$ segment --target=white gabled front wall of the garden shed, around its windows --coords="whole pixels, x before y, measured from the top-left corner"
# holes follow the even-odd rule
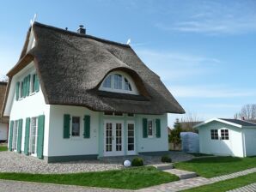
[[[220,129],[229,129],[229,140],[211,140],[210,129],[218,129],[219,136]],[[198,131],[200,153],[244,156],[241,128],[214,121],[201,126]]]

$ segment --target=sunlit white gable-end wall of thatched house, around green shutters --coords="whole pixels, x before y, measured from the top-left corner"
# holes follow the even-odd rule
[[[24,151],[24,138],[25,138],[25,124],[27,117],[38,117],[45,115],[45,137],[44,137],[44,155],[48,155],[48,136],[49,135],[49,111],[50,105],[46,105],[44,95],[41,91],[38,93],[32,93],[26,98],[15,100],[15,84],[17,81],[22,81],[28,74],[33,75],[35,72],[34,63],[29,63],[27,67],[22,69],[16,74],[12,81],[9,91],[9,120],[15,121],[23,119],[22,123],[22,137],[21,137],[21,151]],[[31,87],[31,86],[30,86]]]

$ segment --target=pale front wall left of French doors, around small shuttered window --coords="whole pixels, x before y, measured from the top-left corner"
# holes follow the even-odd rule
[[[99,112],[85,107],[51,105],[49,153],[47,156],[98,154]],[[64,139],[64,114],[80,117],[80,137]],[[83,117],[90,116],[90,138],[83,138]]]

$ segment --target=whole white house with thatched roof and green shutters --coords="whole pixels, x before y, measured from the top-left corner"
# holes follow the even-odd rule
[[[37,22],[8,75],[9,150],[47,162],[167,152],[184,112],[129,45]]]

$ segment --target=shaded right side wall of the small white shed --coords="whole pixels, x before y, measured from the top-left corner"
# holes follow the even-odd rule
[[[256,129],[246,128],[243,129],[245,137],[245,153],[247,156],[256,155]]]

